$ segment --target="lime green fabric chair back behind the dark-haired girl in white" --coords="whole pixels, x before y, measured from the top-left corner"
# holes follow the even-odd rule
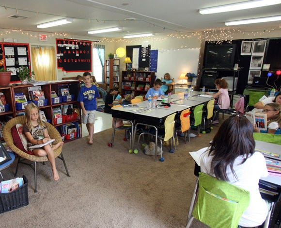
[[[192,215],[207,226],[237,228],[249,203],[247,190],[199,173],[199,196]]]

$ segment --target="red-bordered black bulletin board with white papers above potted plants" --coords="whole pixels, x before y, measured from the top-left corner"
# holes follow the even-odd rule
[[[17,75],[20,66],[31,68],[29,44],[0,43],[0,56],[0,68],[12,71],[11,81],[19,81]]]

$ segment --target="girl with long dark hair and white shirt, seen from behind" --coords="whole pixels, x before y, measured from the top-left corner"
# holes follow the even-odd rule
[[[257,227],[266,218],[268,206],[259,192],[259,179],[268,175],[265,157],[255,152],[253,127],[244,116],[226,119],[211,147],[200,157],[201,172],[250,192],[250,203],[239,225]]]

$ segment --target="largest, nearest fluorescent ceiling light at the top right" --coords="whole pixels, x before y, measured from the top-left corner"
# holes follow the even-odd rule
[[[263,7],[268,5],[276,5],[280,4],[281,0],[250,0],[244,1],[240,3],[228,4],[228,5],[220,5],[210,8],[200,9],[200,14],[217,14],[223,12],[230,12],[236,10],[245,10],[245,9],[252,9],[257,7]]]

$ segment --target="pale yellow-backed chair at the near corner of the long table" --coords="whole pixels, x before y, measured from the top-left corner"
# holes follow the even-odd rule
[[[139,139],[138,139],[138,145],[140,143],[140,138],[143,135],[154,136],[155,137],[156,148],[157,148],[157,145],[158,145],[157,142],[158,142],[158,139],[159,139],[159,141],[160,141],[160,149],[161,149],[161,157],[159,159],[160,162],[164,162],[163,149],[162,149],[162,140],[168,141],[168,140],[170,140],[172,138],[172,144],[170,144],[171,148],[170,148],[169,152],[170,153],[174,152],[174,150],[173,150],[173,142],[174,142],[174,132],[175,132],[175,120],[174,120],[175,115],[176,114],[173,113],[173,114],[168,115],[166,117],[165,122],[164,122],[164,132],[163,133],[161,133],[161,131],[159,131],[159,134],[158,134],[158,129],[154,125],[144,124],[144,123],[137,123],[135,125],[135,129],[137,129],[137,127],[139,125],[142,125],[142,126],[148,127],[149,129],[152,129],[153,131],[155,131],[155,133],[152,133],[152,130],[141,132],[141,134],[139,135]],[[135,138],[135,135],[134,135],[134,138]],[[157,149],[155,151],[155,161],[157,161]]]

